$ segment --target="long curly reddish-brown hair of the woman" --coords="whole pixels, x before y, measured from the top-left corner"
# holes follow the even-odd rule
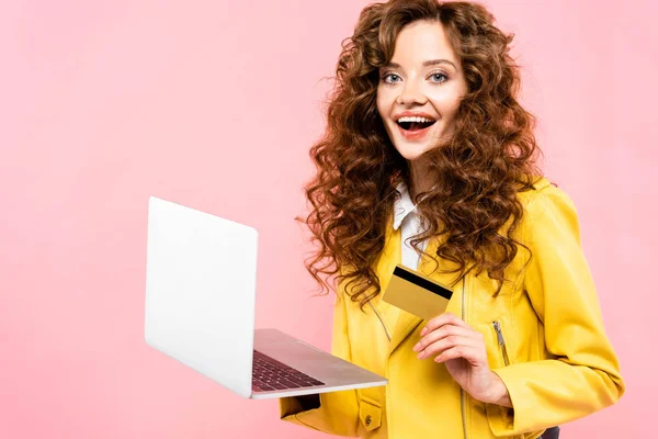
[[[444,26],[467,93],[450,139],[424,154],[438,184],[416,196],[424,232],[411,245],[422,252],[420,243],[445,235],[429,255],[436,269],[441,260],[452,261],[457,268],[450,272],[458,279],[486,270],[500,292],[504,269],[523,246],[512,237],[523,215],[518,192],[541,176],[535,117],[517,100],[520,72],[509,54],[513,34],[496,27],[478,3],[390,0],[366,7],[342,43],[327,130],[310,149],[317,172],[305,188],[310,213],[303,219],[318,245],[306,268],[321,293],[347,281],[345,291],[361,306],[381,292],[374,267],[399,195],[396,187],[409,178],[377,112],[378,69],[393,58],[402,27],[419,20]]]

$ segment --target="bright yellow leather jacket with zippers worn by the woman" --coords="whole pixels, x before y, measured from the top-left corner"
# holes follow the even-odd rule
[[[424,322],[375,297],[338,300],[332,353],[388,378],[383,387],[320,395],[320,407],[303,410],[281,399],[284,420],[331,435],[363,438],[533,439],[611,404],[624,393],[619,361],[603,329],[599,302],[580,247],[571,200],[546,179],[521,192],[525,215],[514,232],[519,247],[498,295],[486,272],[469,273],[454,288],[447,311],[485,336],[489,367],[509,391],[513,409],[472,398],[443,363],[412,351]],[[428,252],[435,251],[430,243]],[[400,262],[399,230],[386,237],[377,263],[383,290]],[[443,263],[443,262],[442,262]],[[450,284],[454,274],[419,271]],[[339,288],[339,299],[345,294]],[[399,313],[399,314],[398,314]]]

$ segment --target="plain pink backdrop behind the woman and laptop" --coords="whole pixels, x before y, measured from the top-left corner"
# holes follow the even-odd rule
[[[144,342],[147,201],[258,227],[259,326],[328,348],[331,299],[310,297],[293,217],[324,127],[321,78],[366,3],[2,2],[0,437],[322,437]],[[646,435],[658,3],[487,4],[518,35],[545,170],[578,206],[628,385],[564,436]]]

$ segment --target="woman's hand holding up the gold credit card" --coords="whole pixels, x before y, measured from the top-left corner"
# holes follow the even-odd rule
[[[432,318],[413,347],[419,359],[434,357],[452,378],[474,398],[511,407],[502,380],[489,369],[487,348],[480,333],[452,313]]]

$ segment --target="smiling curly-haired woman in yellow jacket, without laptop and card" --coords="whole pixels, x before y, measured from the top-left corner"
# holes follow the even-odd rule
[[[537,438],[624,393],[570,199],[536,168],[512,36],[467,2],[365,8],[313,147],[308,263],[338,283],[332,352],[388,378],[281,399],[365,438]],[[381,300],[396,264],[453,288],[423,322]]]

